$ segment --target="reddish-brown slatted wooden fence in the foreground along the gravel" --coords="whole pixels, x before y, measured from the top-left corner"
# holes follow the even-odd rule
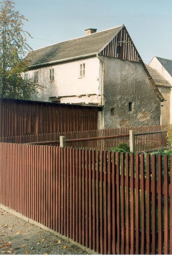
[[[0,159],[1,204],[101,254],[172,254],[167,156],[0,143]]]

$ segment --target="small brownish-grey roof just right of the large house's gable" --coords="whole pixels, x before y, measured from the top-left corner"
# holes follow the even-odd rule
[[[147,64],[145,64],[149,74],[152,76],[154,83],[157,86],[171,86],[171,84],[154,68],[151,68]]]

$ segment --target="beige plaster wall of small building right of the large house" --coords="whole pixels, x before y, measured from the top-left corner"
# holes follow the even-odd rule
[[[161,105],[161,124],[170,123],[170,87],[158,86],[159,91],[166,101],[160,102]]]

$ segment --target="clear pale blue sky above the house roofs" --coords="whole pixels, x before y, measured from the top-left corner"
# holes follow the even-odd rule
[[[153,56],[172,60],[171,0],[15,2],[15,8],[28,19],[24,29],[33,37],[27,37],[32,49],[84,36],[86,28],[101,31],[124,24],[145,63]]]

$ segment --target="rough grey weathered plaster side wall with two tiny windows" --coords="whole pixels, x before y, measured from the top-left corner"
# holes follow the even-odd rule
[[[160,124],[160,103],[139,62],[101,57],[104,74],[104,128]],[[128,111],[133,102],[133,111]],[[111,115],[114,108],[114,115]]]

